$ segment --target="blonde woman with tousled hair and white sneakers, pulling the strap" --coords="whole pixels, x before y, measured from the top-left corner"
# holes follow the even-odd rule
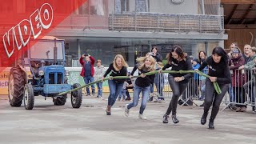
[[[150,96],[150,85],[154,83],[154,75],[145,75],[150,71],[155,69],[155,60],[152,56],[140,57],[137,58],[138,64],[134,66],[134,70],[131,72],[131,76],[138,69],[138,74],[141,76],[136,79],[134,84],[134,98],[133,102],[126,104],[125,114],[126,117],[129,116],[129,110],[132,107],[138,105],[139,94],[142,92],[142,105],[139,110],[138,118],[146,119],[143,115],[143,112],[146,108],[146,102]]]

